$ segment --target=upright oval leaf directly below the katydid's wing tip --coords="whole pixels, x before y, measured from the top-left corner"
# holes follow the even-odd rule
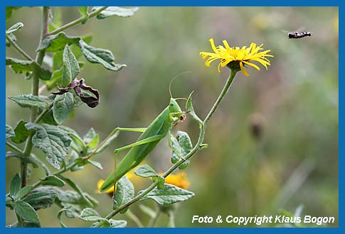
[[[119,182],[117,182],[113,209],[116,210],[120,206],[132,200],[133,197],[134,197],[134,186],[132,182],[130,182],[130,180],[126,176],[124,176],[119,180]],[[125,213],[126,211],[127,211],[127,208],[120,211],[120,213]]]

